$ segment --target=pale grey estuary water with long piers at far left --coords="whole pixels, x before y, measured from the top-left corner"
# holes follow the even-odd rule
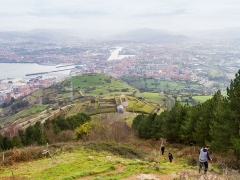
[[[40,73],[40,72],[51,72],[64,70],[59,72],[53,72],[49,74],[43,74],[43,78],[53,77],[53,76],[68,76],[70,74],[69,69],[74,68],[74,66],[59,67],[49,66],[49,65],[39,65],[36,63],[0,63],[0,79],[8,78],[32,78],[35,76],[25,76],[26,74]],[[67,70],[65,70],[67,69]]]

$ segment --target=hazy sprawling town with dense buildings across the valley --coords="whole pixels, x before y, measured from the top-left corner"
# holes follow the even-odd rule
[[[218,89],[226,90],[240,68],[240,44],[229,39],[186,39],[169,43],[0,39],[0,63],[74,65],[65,77],[44,79],[40,73],[34,77],[1,79],[0,103],[84,73],[106,73],[119,79],[130,75],[194,81],[211,94]]]

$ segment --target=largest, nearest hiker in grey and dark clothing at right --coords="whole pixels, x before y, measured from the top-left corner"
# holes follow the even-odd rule
[[[202,148],[199,152],[199,173],[201,172],[202,167],[204,166],[204,174],[207,173],[208,170],[208,160],[212,161],[210,158],[210,154],[208,152],[209,145],[206,145],[205,148]]]

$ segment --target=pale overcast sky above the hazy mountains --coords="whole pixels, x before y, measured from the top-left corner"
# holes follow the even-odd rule
[[[240,27],[239,0],[1,0],[0,30]]]

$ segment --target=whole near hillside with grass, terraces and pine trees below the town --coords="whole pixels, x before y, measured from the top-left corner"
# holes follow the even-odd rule
[[[111,89],[122,85],[121,91]],[[160,113],[163,107],[143,100],[147,96],[150,99],[151,94],[144,93],[140,98],[136,97],[138,93],[113,77],[86,74],[41,89],[21,103],[13,102],[7,108],[15,114],[8,120],[15,123],[1,129],[5,130],[4,136],[0,134],[0,179],[239,178],[240,162],[234,151],[239,148],[238,141],[224,141],[238,131],[227,131],[225,127],[224,133],[228,134],[220,137],[225,118],[216,126],[216,110],[220,115],[229,115],[226,107],[230,106],[225,103],[231,101],[224,101],[218,92],[203,104],[191,107],[177,102],[171,111]],[[155,93],[153,97],[156,95],[160,96]],[[39,97],[42,105],[36,105]],[[123,109],[116,113],[118,104]],[[217,121],[208,118],[211,113]],[[208,123],[211,129],[206,131],[200,123]],[[198,152],[206,143],[201,127],[207,138],[213,137],[213,161],[207,175],[197,170]],[[188,146],[189,142],[193,143]],[[159,152],[162,144],[166,148],[164,155]],[[168,160],[169,152],[174,156],[173,163]]]

